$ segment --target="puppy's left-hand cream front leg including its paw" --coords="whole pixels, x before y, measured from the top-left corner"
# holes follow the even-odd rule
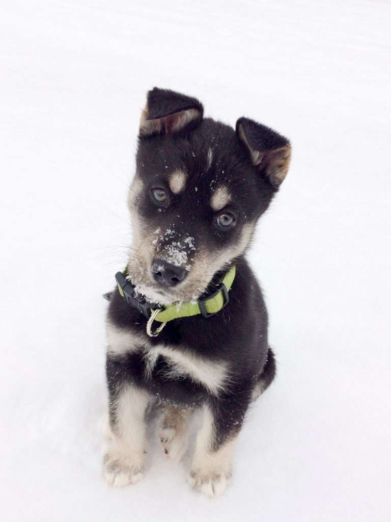
[[[143,476],[146,446],[144,413],[148,406],[148,394],[133,384],[121,383],[120,379],[113,382],[113,375],[115,373],[107,375],[112,438],[103,462],[107,482],[122,487],[138,482]]]

